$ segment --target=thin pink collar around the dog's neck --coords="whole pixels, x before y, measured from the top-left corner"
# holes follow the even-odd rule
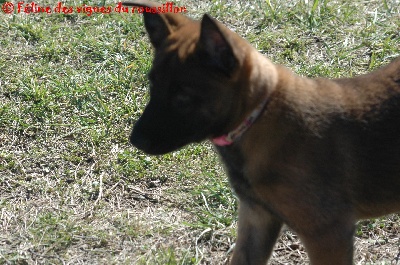
[[[222,136],[211,139],[211,141],[218,146],[225,146],[232,144],[236,139],[243,135],[250,128],[250,126],[254,123],[254,121],[261,114],[261,111],[264,109],[265,104],[267,104],[267,99],[263,100],[260,105],[257,106],[253,110],[252,113],[233,131],[230,131],[228,134],[224,134]]]

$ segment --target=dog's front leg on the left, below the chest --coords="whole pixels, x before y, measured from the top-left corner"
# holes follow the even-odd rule
[[[262,206],[239,203],[238,237],[231,265],[265,265],[279,235],[282,222]]]

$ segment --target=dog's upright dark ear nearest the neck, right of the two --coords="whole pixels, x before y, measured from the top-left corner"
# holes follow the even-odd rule
[[[224,30],[218,21],[205,14],[201,20],[200,45],[208,55],[207,63],[230,76],[238,64]]]

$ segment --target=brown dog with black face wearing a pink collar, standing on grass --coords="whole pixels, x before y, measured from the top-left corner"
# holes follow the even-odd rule
[[[283,224],[311,264],[352,264],[356,221],[400,211],[400,57],[309,79],[207,14],[143,16],[155,57],[130,142],[160,155],[212,141],[239,198],[230,264],[266,264]]]

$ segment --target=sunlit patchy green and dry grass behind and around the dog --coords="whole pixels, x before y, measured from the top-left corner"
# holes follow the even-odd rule
[[[354,76],[400,54],[398,1],[176,4],[305,76]],[[237,204],[211,145],[150,157],[128,143],[152,58],[139,15],[2,13],[0,46],[0,264],[227,260]],[[357,264],[395,259],[399,224],[360,222]],[[271,262],[282,263],[307,263],[290,230]]]

